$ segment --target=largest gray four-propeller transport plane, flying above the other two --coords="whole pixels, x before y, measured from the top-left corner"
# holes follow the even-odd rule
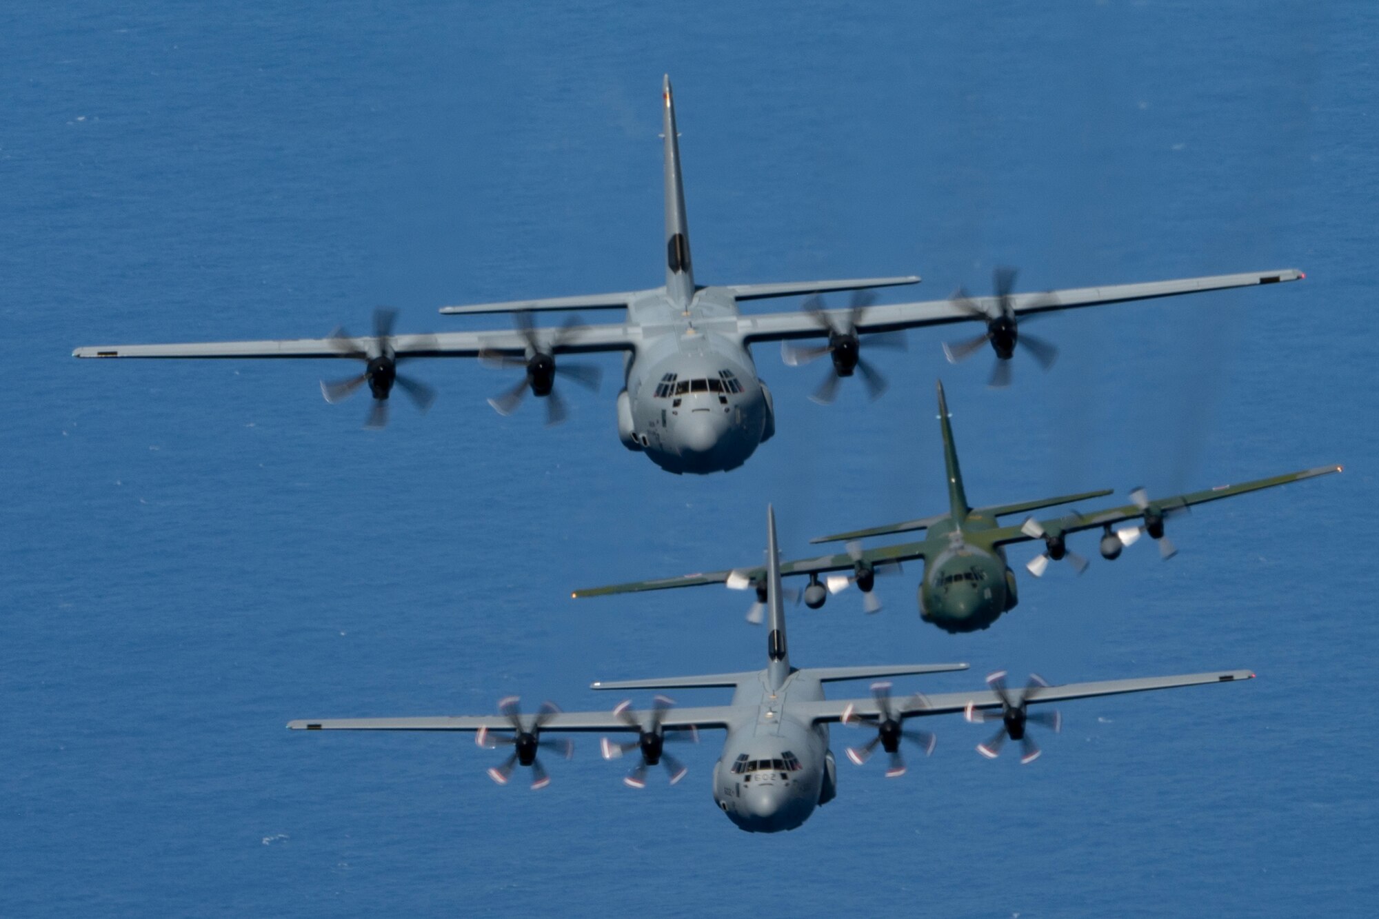
[[[474,306],[444,306],[451,315],[516,315],[517,328],[495,331],[433,333],[394,335],[392,310],[375,313],[372,337],[336,333],[328,338],[281,341],[230,341],[183,345],[97,345],[77,348],[76,357],[350,357],[364,362],[352,378],[321,384],[328,402],[349,396],[365,382],[374,397],[370,426],[386,422],[387,397],[394,382],[421,408],[434,393],[421,381],[401,377],[399,362],[411,357],[480,357],[488,364],[521,368],[516,385],[490,400],[502,414],[513,411],[531,391],[546,400],[550,422],[564,418],[563,402],[554,389],[564,375],[597,388],[598,368],[567,364],[563,355],[621,350],[625,353],[625,385],[618,393],[618,436],[629,450],[645,453],[652,462],[674,473],[710,473],[735,469],[757,446],[775,433],[771,392],[757,377],[752,345],[782,342],[787,363],[805,363],[829,355],[833,368],[815,393],[818,402],[832,399],[838,378],[860,371],[863,382],[878,395],[885,382],[860,355],[862,345],[895,344],[883,333],[946,323],[982,322],[986,331],[968,342],[945,346],[952,360],[969,356],[990,344],[997,363],[993,385],[1009,377],[1007,362],[1016,346],[1027,346],[1043,364],[1055,350],[1045,342],[1025,338],[1019,319],[1033,313],[1150,299],[1227,287],[1248,287],[1292,281],[1303,277],[1296,269],[1218,275],[1081,287],[1044,294],[1012,293],[1014,273],[997,272],[996,297],[969,298],[961,291],[952,299],[870,305],[865,291],[877,287],[914,284],[917,276],[867,277],[852,280],[789,281],[779,284],[727,284],[702,287],[695,283],[690,258],[690,225],[685,218],[680,172],[680,142],[676,132],[674,99],[667,76],[662,88],[666,197],[666,283],[650,290],[525,299]],[[818,295],[829,291],[863,291],[848,309],[823,309]],[[772,297],[814,295],[803,310],[742,315],[738,304]],[[626,309],[622,323],[582,326],[571,319],[558,328],[536,328],[536,310]],[[822,338],[818,346],[790,348],[794,339]]]

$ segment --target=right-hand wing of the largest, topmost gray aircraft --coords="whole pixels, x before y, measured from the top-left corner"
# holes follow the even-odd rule
[[[1076,287],[1069,290],[1055,290],[1034,294],[1012,294],[1011,304],[1015,313],[1045,313],[1059,309],[1078,309],[1083,306],[1103,306],[1107,304],[1124,304],[1132,299],[1154,299],[1157,297],[1176,297],[1178,294],[1197,294],[1211,290],[1225,290],[1227,287],[1254,287],[1256,284],[1276,284],[1281,281],[1300,280],[1305,275],[1294,268],[1247,272],[1242,275],[1212,275],[1208,277],[1182,277],[1176,280],[1149,281],[1145,284],[1114,284],[1110,287]],[[985,310],[989,316],[997,315],[996,297],[972,297],[971,304]],[[827,309],[837,327],[844,327],[849,322],[849,309]],[[918,304],[888,304],[867,306],[856,323],[860,333],[899,331],[903,328],[920,328],[921,326],[940,326],[945,323],[972,322],[972,315],[952,299],[935,299]],[[814,338],[826,335],[825,328],[815,316],[804,310],[783,313],[745,315],[738,317],[738,334],[746,342],[783,341],[787,338]]]

